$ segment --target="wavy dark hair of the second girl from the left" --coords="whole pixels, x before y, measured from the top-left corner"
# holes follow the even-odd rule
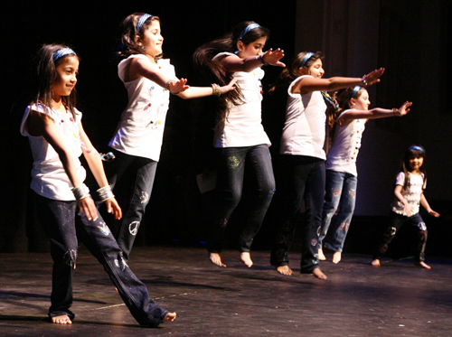
[[[137,23],[139,19],[145,15],[146,13],[134,13],[128,15],[124,21],[121,23],[122,28],[122,35],[121,40],[119,42],[118,46],[118,59],[123,60],[127,59],[130,55],[135,54],[145,54],[145,50],[142,46],[140,46],[137,42],[137,38],[143,38],[144,32],[146,31],[146,28],[153,22],[158,21],[160,22],[160,18],[155,15],[149,16],[145,23],[141,26],[141,29],[139,32],[137,32]],[[163,57],[163,54],[158,54],[155,56],[155,61],[161,59]]]

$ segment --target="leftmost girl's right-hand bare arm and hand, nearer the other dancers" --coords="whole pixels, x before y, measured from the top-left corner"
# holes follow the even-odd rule
[[[89,141],[89,137],[86,135],[81,123],[79,124],[79,132],[80,140],[83,144],[81,150],[83,151],[83,155],[89,165],[89,170],[91,170],[91,173],[94,175],[94,178],[96,179],[96,182],[98,182],[100,188],[108,186],[109,183],[104,172],[104,166],[102,164],[102,160],[100,159],[100,155]],[[108,213],[113,213],[115,215],[115,219],[117,220],[121,219],[122,211],[118,205],[118,201],[114,197],[107,199],[105,204],[107,205]]]

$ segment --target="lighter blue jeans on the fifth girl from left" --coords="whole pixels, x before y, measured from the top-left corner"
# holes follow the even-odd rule
[[[318,248],[342,252],[345,237],[352,222],[356,201],[358,177],[350,173],[326,170],[326,187],[322,229],[318,239]],[[341,204],[333,228],[328,231],[337,207]],[[324,241],[325,239],[325,241]]]

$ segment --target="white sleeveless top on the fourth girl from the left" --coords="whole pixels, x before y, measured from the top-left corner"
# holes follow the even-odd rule
[[[286,123],[281,137],[280,154],[308,155],[326,159],[325,144],[325,100],[320,91],[294,94],[292,90],[300,76],[287,89]]]

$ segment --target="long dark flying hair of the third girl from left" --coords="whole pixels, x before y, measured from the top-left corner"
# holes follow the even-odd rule
[[[254,21],[244,21],[232,28],[231,33],[227,33],[220,39],[207,42],[199,47],[193,54],[194,65],[202,75],[212,83],[218,83],[221,86],[227,85],[232,80],[232,73],[221,64],[220,61],[212,61],[213,57],[220,52],[237,51],[237,42],[241,41],[248,45],[255,42],[261,37],[269,38],[270,32],[265,27],[257,27],[251,29],[248,33],[243,35],[240,39],[240,34]],[[240,85],[235,84],[236,90],[231,90],[222,94],[218,98],[218,111],[216,117],[216,127],[222,128],[228,117],[229,104],[240,105],[243,103],[243,95],[240,90]]]

